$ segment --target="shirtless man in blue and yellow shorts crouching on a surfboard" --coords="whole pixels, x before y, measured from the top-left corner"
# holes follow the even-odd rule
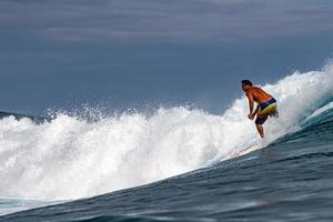
[[[250,80],[242,80],[242,89],[249,99],[250,120],[255,119],[256,130],[261,138],[264,137],[263,123],[269,117],[278,117],[276,100],[263,91],[261,88],[253,87]],[[254,102],[258,103],[256,109],[253,111]]]

